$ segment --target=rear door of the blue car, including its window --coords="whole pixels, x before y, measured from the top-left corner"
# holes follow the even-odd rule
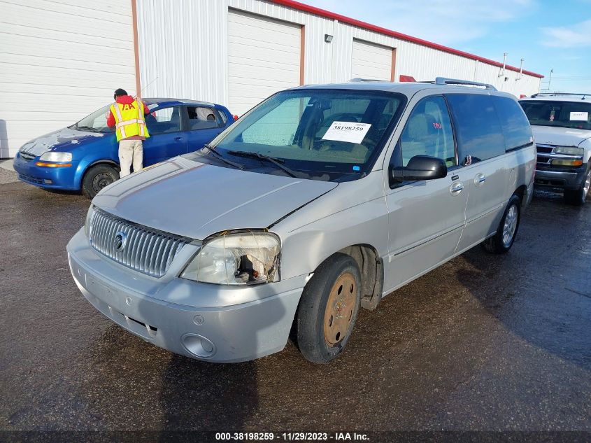
[[[227,116],[215,108],[186,106],[188,152],[203,148],[226,127]]]

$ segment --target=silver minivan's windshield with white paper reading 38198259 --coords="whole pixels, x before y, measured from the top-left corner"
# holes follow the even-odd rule
[[[278,92],[211,146],[245,169],[256,165],[317,180],[355,180],[371,170],[405,102],[390,92]]]

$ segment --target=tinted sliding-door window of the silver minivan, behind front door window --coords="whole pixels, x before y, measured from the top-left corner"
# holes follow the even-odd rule
[[[505,153],[503,131],[490,95],[449,94],[446,96],[455,122],[460,163],[468,155],[472,162]]]

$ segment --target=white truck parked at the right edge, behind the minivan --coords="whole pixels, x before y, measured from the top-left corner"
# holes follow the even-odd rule
[[[521,99],[532,125],[538,186],[564,190],[564,199],[582,205],[591,184],[591,94],[546,93]]]

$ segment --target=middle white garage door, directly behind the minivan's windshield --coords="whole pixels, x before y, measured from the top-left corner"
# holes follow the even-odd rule
[[[301,27],[229,10],[228,104],[242,115],[269,95],[299,85]]]

